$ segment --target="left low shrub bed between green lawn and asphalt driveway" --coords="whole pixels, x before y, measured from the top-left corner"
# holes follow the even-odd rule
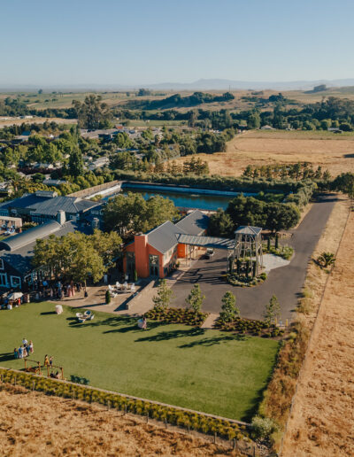
[[[164,321],[168,323],[184,323],[187,325],[200,326],[203,324],[209,313],[197,313],[188,308],[152,308],[145,316],[153,321]]]

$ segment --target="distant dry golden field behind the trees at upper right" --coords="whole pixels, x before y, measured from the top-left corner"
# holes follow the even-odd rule
[[[335,176],[354,172],[354,135],[327,132],[249,131],[227,143],[226,152],[198,154],[211,174],[240,176],[248,165],[310,162]],[[178,161],[183,162],[185,158]]]

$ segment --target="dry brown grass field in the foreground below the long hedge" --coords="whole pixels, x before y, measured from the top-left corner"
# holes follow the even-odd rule
[[[0,455],[6,457],[238,455],[131,415],[20,388],[0,391],[0,411]]]

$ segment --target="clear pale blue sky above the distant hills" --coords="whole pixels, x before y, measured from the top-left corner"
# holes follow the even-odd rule
[[[354,77],[353,0],[3,0],[0,86]]]

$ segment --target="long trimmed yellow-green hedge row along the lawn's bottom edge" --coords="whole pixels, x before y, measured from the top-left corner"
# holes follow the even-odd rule
[[[145,399],[126,397],[119,393],[96,390],[92,387],[67,383],[28,373],[19,373],[11,369],[0,368],[3,383],[21,385],[27,389],[42,391],[47,395],[55,395],[65,399],[80,399],[88,403],[98,403],[126,411],[140,414],[172,425],[205,434],[217,433],[220,438],[248,441],[247,426],[226,419],[211,417],[208,414],[184,411],[177,407],[168,407],[152,403]]]

